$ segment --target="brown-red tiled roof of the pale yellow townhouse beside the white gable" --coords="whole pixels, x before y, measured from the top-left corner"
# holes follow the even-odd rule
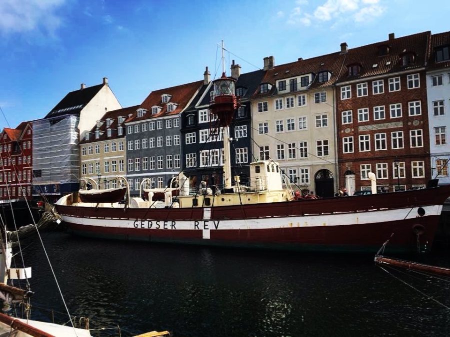
[[[121,108],[121,109],[111,110],[111,111],[106,112],[100,118],[100,120],[103,121],[101,126],[99,128],[97,128],[97,125],[95,123],[94,127],[89,130],[89,132],[90,132],[89,140],[81,139],[80,144],[114,139],[117,137],[124,137],[125,136],[125,120],[128,118],[128,115],[135,113],[138,108],[139,108],[139,105],[134,105],[134,106],[129,106],[127,108]],[[124,117],[123,122],[120,125],[118,125],[118,117],[119,116]],[[106,127],[106,119],[108,119],[108,118],[112,119],[112,122],[108,127]],[[123,127],[123,133],[121,136],[117,135],[117,126]],[[107,137],[107,131],[106,131],[107,129],[111,129],[110,137]],[[97,130],[100,131],[100,137],[98,139],[95,139],[95,131],[97,131]]]

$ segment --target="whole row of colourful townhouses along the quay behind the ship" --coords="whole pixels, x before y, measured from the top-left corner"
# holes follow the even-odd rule
[[[241,73],[229,126],[231,171],[248,183],[251,161],[274,160],[285,183],[319,196],[449,184],[450,32],[426,31]],[[122,108],[108,86],[81,84],[42,119],[1,133],[0,198],[59,196],[88,177],[102,188],[126,176],[163,188],[179,171],[191,187],[220,188],[222,130],[203,79],[152,91]]]

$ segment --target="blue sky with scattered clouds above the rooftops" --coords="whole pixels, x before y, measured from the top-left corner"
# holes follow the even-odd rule
[[[0,126],[44,117],[68,92],[108,77],[122,107],[152,91],[430,30],[450,1],[0,0]],[[227,72],[229,74],[229,71]]]

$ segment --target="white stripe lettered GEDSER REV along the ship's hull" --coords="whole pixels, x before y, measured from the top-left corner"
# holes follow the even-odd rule
[[[439,215],[442,205],[425,206],[425,215]],[[101,219],[78,218],[62,215],[63,221],[71,224],[111,227],[111,228],[144,228],[144,229],[176,229],[176,230],[245,230],[292,227],[345,226],[356,224],[373,224],[391,221],[402,221],[417,218],[417,207],[396,210],[374,210],[368,212],[317,214],[293,217],[269,217],[246,220],[147,220],[147,219]],[[209,233],[203,233],[208,237]]]

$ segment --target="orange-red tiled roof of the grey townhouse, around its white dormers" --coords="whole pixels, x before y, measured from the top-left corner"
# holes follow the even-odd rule
[[[193,96],[197,93],[197,91],[200,89],[202,85],[203,81],[201,80],[192,83],[172,86],[170,88],[152,91],[147,96],[147,98],[144,99],[142,104],[140,104],[140,108],[146,109],[147,113],[142,117],[137,117],[137,114],[135,113],[131,118],[126,120],[126,122],[156,118],[161,116],[177,115],[186,107],[187,104],[189,104],[190,100],[193,98]],[[162,103],[161,96],[163,94],[171,96],[170,100],[167,103]],[[167,105],[170,103],[175,103],[177,104],[177,106],[175,107],[175,109],[173,109],[173,111],[167,113]],[[159,113],[152,115],[151,114],[152,106],[161,107]]]

